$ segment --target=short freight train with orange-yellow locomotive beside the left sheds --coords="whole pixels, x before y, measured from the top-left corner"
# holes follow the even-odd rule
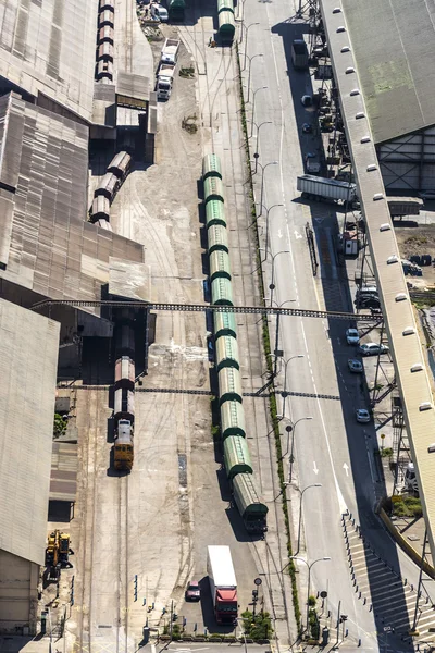
[[[135,427],[135,331],[132,309],[122,309],[115,326],[113,467],[130,471]]]

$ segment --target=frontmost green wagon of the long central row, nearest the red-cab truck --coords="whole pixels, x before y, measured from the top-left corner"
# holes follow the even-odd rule
[[[233,496],[246,530],[251,533],[264,533],[268,530],[269,508],[261,501],[251,473],[238,473],[233,479]]]

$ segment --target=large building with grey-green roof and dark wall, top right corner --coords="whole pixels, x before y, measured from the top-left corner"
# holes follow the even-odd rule
[[[435,192],[433,3],[343,8],[386,192]]]

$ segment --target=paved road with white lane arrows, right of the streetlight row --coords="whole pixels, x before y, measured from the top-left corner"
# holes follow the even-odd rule
[[[252,90],[268,86],[256,93],[254,121],[257,124],[271,121],[260,128],[259,162],[268,165],[278,161],[278,164],[264,169],[263,204],[265,207],[284,205],[271,209],[269,214],[269,280],[273,255],[276,285],[273,299],[278,305],[294,300],[295,307],[349,310],[351,297],[347,280],[334,254],[337,231],[334,207],[315,205],[310,208],[299,201],[296,190],[296,176],[303,172],[301,152],[315,151],[320,143],[315,136],[301,134],[302,123],[312,121],[312,115],[302,107],[300,98],[311,94],[312,86],[309,75],[295,72],[290,63],[291,40],[307,32],[306,25],[291,21],[291,13],[284,0],[245,2],[246,24],[259,22],[249,28],[248,54],[263,54],[252,60]],[[240,49],[244,47],[245,44]],[[262,176],[259,168],[257,198],[260,197]],[[304,238],[307,221],[314,230],[320,256],[316,278],[312,275]],[[265,231],[263,222],[263,235]],[[277,256],[278,252],[284,254]],[[381,620],[383,607],[373,602],[373,609],[369,612],[351,582],[341,528],[343,513],[349,510],[356,516],[364,535],[393,568],[400,569],[413,581],[417,581],[418,571],[397,552],[373,515],[376,497],[383,494],[384,481],[374,465],[373,427],[358,424],[355,419],[355,409],[366,404],[360,378],[347,370],[349,348],[344,333],[350,325],[289,317],[281,320],[279,348],[284,349],[288,360],[286,389],[307,394],[287,397],[283,411],[294,422],[301,420],[294,432],[299,488],[322,484],[322,488],[310,489],[303,498],[308,559],[331,557],[312,568],[311,587],[328,592],[328,608],[333,615],[340,605],[341,613],[348,616],[349,637],[353,641],[361,639],[365,648],[385,650],[384,636],[376,634],[383,632],[384,624],[388,624]],[[315,396],[324,394],[340,399]],[[307,417],[312,419],[303,419]],[[285,443],[284,451],[286,448]],[[294,521],[297,529],[297,515],[294,515]],[[298,568],[307,580],[306,564],[298,563]],[[398,606],[401,603],[405,606],[405,594],[400,595],[400,590],[396,600]],[[391,642],[394,637],[390,636]],[[407,644],[400,642],[400,638],[396,639],[396,648],[407,650]]]

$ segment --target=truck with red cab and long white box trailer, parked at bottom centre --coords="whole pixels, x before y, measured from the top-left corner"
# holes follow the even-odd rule
[[[208,546],[207,572],[217,624],[237,619],[237,581],[229,546]]]

